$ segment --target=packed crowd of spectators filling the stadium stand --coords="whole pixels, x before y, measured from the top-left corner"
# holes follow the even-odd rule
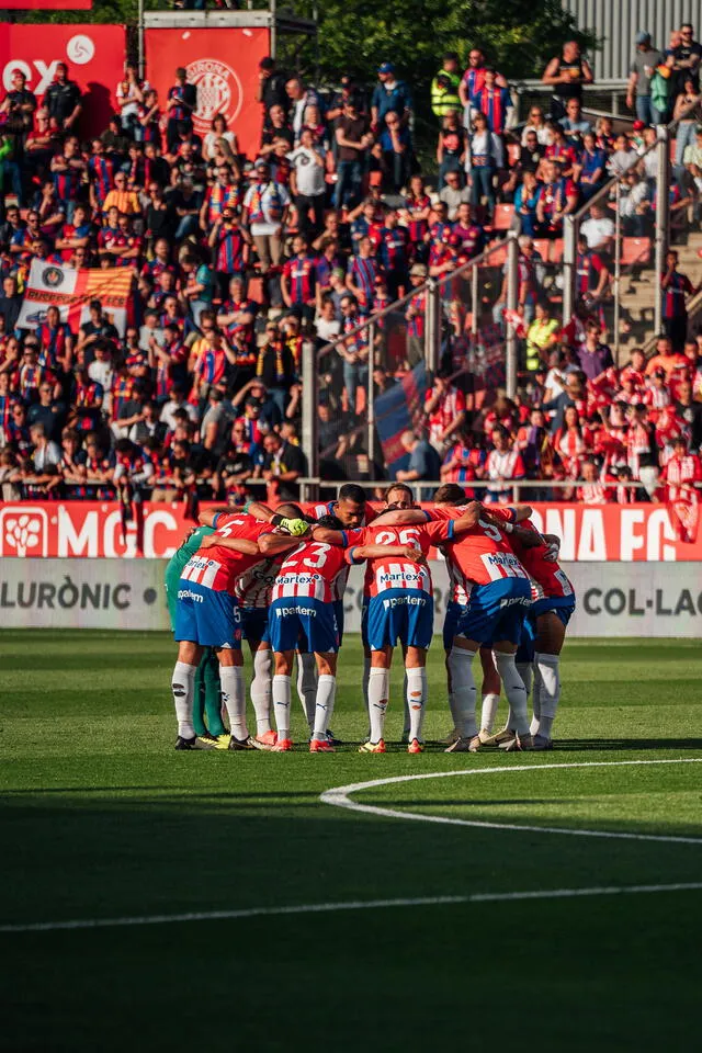
[[[642,154],[653,122],[698,100],[701,54],[686,26],[661,52],[639,34],[629,89],[637,120],[618,135],[611,120],[584,116],[592,73],[577,44],[548,64],[553,99],[518,128],[507,80],[484,53],[473,48],[465,70],[446,54],[431,84],[431,172],[415,149],[412,87],[390,61],[370,90],[341,77],[322,95],[263,59],[254,156],[220,116],[195,134],[196,89],[182,69],[160,99],[127,64],[114,116],[91,141],[77,134],[81,93],[65,65],[38,100],[18,69],[0,104],[2,499],[295,497],[307,471],[303,341],[321,352],[344,333],[319,358],[322,477],[386,477],[383,464],[369,466],[358,427],[369,346],[353,330],[419,290],[401,310],[399,353],[389,339],[397,319],[376,328],[382,395],[423,356],[427,278],[450,276],[516,219],[519,394],[502,393],[502,260],[477,326],[469,280],[444,285],[441,367],[423,427],[403,437],[409,466],[397,477],[489,479],[492,501],[511,497],[503,480],[536,479],[532,497],[596,503],[658,500],[666,485],[702,479],[702,338],[688,339],[695,290],[675,252],[663,280],[666,336],[653,358],[634,351],[621,369],[608,346],[607,201],[581,226],[577,309],[565,327],[547,281],[564,216],[612,176],[624,236],[652,235],[655,155]],[[702,186],[694,120],[680,127],[673,172],[671,204],[684,207]],[[129,268],[124,337],[99,301],[77,331],[55,309],[38,328],[18,328],[36,258]],[[573,486],[556,492],[554,480]]]

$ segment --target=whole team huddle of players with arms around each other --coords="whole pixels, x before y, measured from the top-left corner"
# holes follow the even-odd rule
[[[443,626],[453,718],[446,751],[550,749],[561,695],[559,655],[575,593],[558,566],[558,539],[540,534],[530,516],[529,506],[487,509],[467,501],[453,483],[437,490],[429,508],[416,506],[411,491],[398,484],[386,491],[384,507],[372,507],[361,487],[348,484],[328,505],[285,503],[273,510],[252,502],[246,511],[202,512],[202,525],[166,571],[179,645],[171,682],[176,749],[291,750],[296,657],[308,725],[304,738],[310,752],[333,752],[329,725],[343,593],[350,567],[365,564],[367,735],[360,751],[386,751],[390,664],[399,645],[406,673],[403,738],[408,752],[421,752],[434,621],[431,548],[443,553],[451,580]],[[253,665],[256,734],[247,724],[244,641]],[[473,672],[478,653],[479,718]],[[509,713],[506,726],[494,733],[500,681]]]

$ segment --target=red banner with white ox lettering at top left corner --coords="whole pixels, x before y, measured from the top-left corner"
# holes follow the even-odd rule
[[[107,127],[124,57],[123,25],[0,24],[3,94],[12,89],[13,72],[21,70],[26,87],[41,101],[58,63],[67,63],[69,78],[83,92],[78,127],[81,136],[98,135]]]

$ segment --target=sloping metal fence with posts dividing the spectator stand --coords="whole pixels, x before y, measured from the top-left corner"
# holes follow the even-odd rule
[[[686,144],[694,143],[698,122],[702,122],[699,104],[678,122],[659,126],[655,140],[636,157],[633,178],[621,171],[609,179],[577,212],[564,217],[562,237],[532,239],[534,251],[526,264],[535,275],[536,293],[551,301],[552,314],[566,326],[584,295],[588,299],[578,234],[588,233],[585,224],[592,218],[592,210],[605,206],[614,227],[603,252],[611,283],[600,302],[593,296],[587,306],[600,314],[615,361],[626,320],[621,306],[625,279],[645,272],[654,292],[652,317],[645,320],[639,342],[646,344],[661,331],[666,253],[677,225],[687,225],[692,197],[687,194],[682,161]],[[635,206],[641,183],[647,184],[645,208]],[[682,191],[678,189],[672,200],[676,186]],[[439,369],[451,374],[464,390],[469,410],[479,410],[488,390],[503,389],[510,398],[517,395],[520,381],[528,380],[521,355],[532,305],[520,303],[526,250],[520,244],[516,213],[511,227],[452,273],[414,280],[407,295],[370,317],[359,317],[350,305],[335,340],[306,344],[303,448],[312,478],[372,486],[385,477],[388,449],[392,454],[394,442],[398,456],[401,450],[398,435],[382,440],[387,430],[384,395],[396,383],[405,385],[407,427],[421,426],[421,404],[412,401],[411,376],[417,366],[430,381]]]

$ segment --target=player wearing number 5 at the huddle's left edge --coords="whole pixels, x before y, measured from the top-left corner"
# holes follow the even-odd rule
[[[265,536],[263,536],[265,534]],[[268,556],[293,547],[290,535],[271,533],[246,513],[217,520],[214,533],[185,564],[178,584],[176,639],[178,661],[171,681],[178,739],[176,749],[195,748],[193,692],[204,647],[213,647],[219,661],[223,700],[229,714],[229,749],[256,749],[246,723],[246,695],[241,676],[241,625],[236,597],[237,578]]]

